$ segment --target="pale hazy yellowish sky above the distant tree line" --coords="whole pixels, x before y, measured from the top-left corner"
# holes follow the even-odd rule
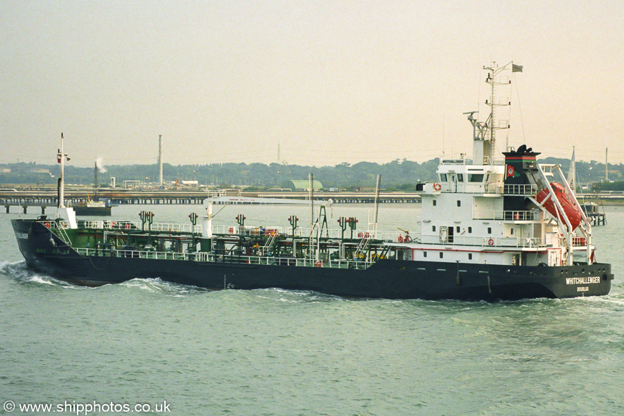
[[[471,153],[482,67],[510,145],[624,162],[624,1],[0,1],[0,162],[422,162]],[[481,96],[480,96],[481,95]],[[483,106],[481,106],[483,111]],[[499,143],[499,148],[504,145]]]

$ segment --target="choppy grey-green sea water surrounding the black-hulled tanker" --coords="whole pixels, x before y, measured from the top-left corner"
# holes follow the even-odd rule
[[[143,209],[161,222],[203,214],[126,205],[112,218]],[[333,205],[329,225],[356,216],[365,229],[372,210]],[[379,228],[414,232],[418,211],[381,205]],[[215,223],[237,214],[245,225],[309,224],[305,205],[227,206]],[[621,207],[593,228],[615,274],[608,296],[496,303],[206,291],[157,276],[78,287],[26,268],[18,217],[0,214],[3,414],[624,414]]]

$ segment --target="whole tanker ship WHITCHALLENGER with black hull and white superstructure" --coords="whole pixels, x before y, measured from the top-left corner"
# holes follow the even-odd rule
[[[289,227],[249,227],[243,215],[215,227],[210,200],[200,223],[191,214],[187,224],[158,224],[147,211],[138,222],[78,221],[62,204],[61,177],[58,218],[12,220],[19,250],[29,268],[87,286],[158,278],[209,289],[388,299],[606,295],[611,266],[596,260],[591,222],[560,166],[539,164],[539,153],[524,145],[496,154],[496,133],[508,125],[495,116],[508,104],[495,93],[517,68],[484,67],[489,114],[479,120],[466,113],[474,155],[440,159],[435,181],[417,184],[415,235],[379,231],[376,211],[365,230],[355,218],[330,228],[325,206],[315,214],[313,198],[306,228],[295,216]],[[64,157],[61,151],[61,163]]]

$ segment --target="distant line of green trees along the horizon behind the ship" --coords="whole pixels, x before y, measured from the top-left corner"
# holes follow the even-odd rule
[[[567,173],[570,161],[547,158],[540,162],[557,163]],[[309,173],[319,180],[324,188],[354,189],[374,187],[376,176],[381,174],[382,187],[387,190],[413,191],[419,181],[435,179],[435,169],[439,159],[431,159],[419,164],[409,160],[394,160],[385,164],[359,162],[342,163],[336,166],[298,166],[277,163],[224,163],[205,165],[163,164],[163,180],[171,184],[176,180],[197,180],[200,184],[215,187],[253,187],[266,189],[281,187],[287,180],[306,180]],[[106,166],[105,173],[98,173],[98,182],[107,186],[110,178],[115,177],[117,186],[123,180],[141,180],[144,183],[158,182],[158,166],[150,165],[113,165]],[[605,179],[605,164],[598,162],[576,162],[578,183],[601,182]],[[35,163],[0,164],[0,184],[55,184],[60,174],[58,165],[40,165]],[[94,183],[94,168],[65,166],[67,184],[90,185]],[[624,190],[624,165],[609,164],[609,182],[602,189]]]

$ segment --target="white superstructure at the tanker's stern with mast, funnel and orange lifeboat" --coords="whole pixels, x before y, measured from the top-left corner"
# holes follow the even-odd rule
[[[512,62],[484,68],[490,112],[484,121],[466,113],[474,127],[474,157],[442,158],[435,182],[418,185],[419,237],[399,243],[407,259],[510,266],[593,263],[591,225],[560,166],[537,164],[539,153],[526,146],[495,153],[496,132],[509,128],[508,119],[497,115],[510,105],[510,94],[503,101],[497,94],[518,68]]]

